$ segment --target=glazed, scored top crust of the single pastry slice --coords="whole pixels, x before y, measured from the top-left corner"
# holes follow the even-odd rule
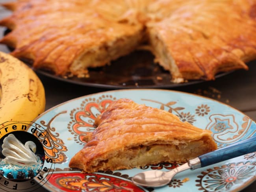
[[[130,99],[119,99],[109,104],[96,118],[95,126],[95,131],[85,135],[83,140],[88,141],[85,147],[96,146],[101,142],[102,149],[99,151],[102,153],[108,148],[119,148],[117,142],[129,142],[132,146],[133,142],[135,145],[162,141],[166,143],[168,140],[183,142],[211,135],[211,131],[182,122],[168,111],[139,105]]]

